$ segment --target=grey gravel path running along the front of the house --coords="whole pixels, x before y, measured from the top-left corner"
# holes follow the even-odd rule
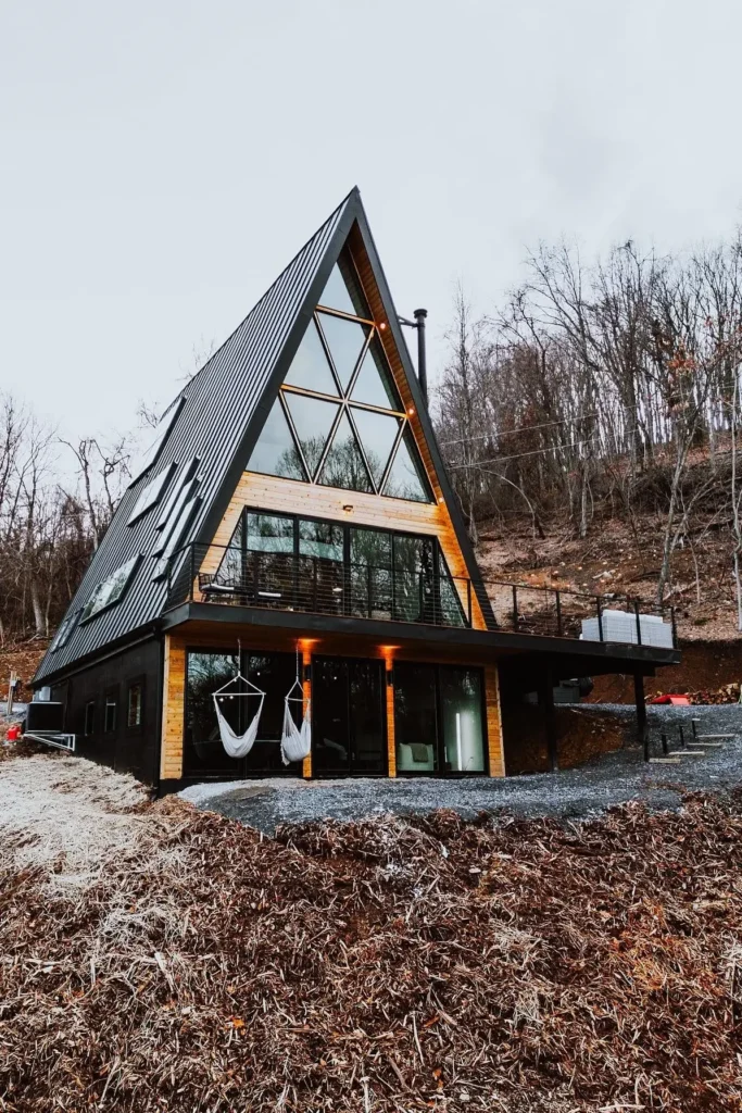
[[[632,708],[601,706],[626,718],[627,736],[634,722]],[[634,745],[609,754],[577,769],[556,776],[533,774],[502,779],[443,780],[358,778],[348,780],[266,779],[195,785],[180,796],[198,807],[239,819],[266,834],[279,824],[311,819],[360,819],[394,812],[427,812],[453,808],[466,818],[479,811],[503,810],[522,816],[577,817],[595,815],[626,800],[642,799],[652,808],[676,808],[686,789],[725,790],[742,784],[742,706],[647,708],[653,755],[661,756],[660,732],[670,749],[679,746],[679,726],[692,742],[691,719],[700,719],[699,733],[735,733],[721,749],[679,766],[645,765]],[[692,745],[689,745],[692,749]]]

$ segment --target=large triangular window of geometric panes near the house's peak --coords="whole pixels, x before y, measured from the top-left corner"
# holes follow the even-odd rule
[[[432,502],[350,256],[333,269],[247,470]]]

